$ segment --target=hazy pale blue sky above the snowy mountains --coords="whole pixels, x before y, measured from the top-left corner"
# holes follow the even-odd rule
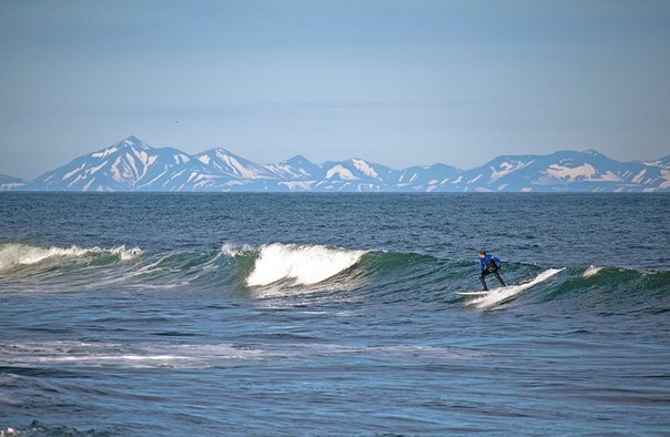
[[[129,135],[257,163],[659,159],[670,1],[1,1],[0,174]]]

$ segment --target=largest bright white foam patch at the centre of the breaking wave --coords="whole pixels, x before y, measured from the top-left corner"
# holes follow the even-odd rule
[[[293,281],[293,285],[317,284],[349,268],[364,254],[365,251],[321,245],[263,245],[246,284],[258,286],[286,280]]]

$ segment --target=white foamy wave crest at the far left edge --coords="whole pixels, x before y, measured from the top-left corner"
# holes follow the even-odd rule
[[[33,265],[57,257],[62,258],[80,258],[92,255],[114,255],[122,261],[132,260],[142,255],[142,250],[139,247],[126,248],[118,246],[111,250],[100,247],[43,247],[24,243],[4,243],[0,244],[0,271],[4,271],[14,266]]]

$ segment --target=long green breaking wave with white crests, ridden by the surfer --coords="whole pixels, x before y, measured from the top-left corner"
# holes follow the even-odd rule
[[[605,301],[632,301],[654,312],[669,311],[670,272],[666,271],[595,265],[547,270],[507,263],[504,275],[510,287],[475,298],[458,295],[476,289],[475,264],[416,253],[285,243],[260,247],[226,244],[209,253],[154,254],[125,246],[0,243],[0,285],[4,293],[177,289],[252,298],[322,294],[332,298],[337,294],[343,299],[422,299],[488,309],[506,305],[517,295],[546,302],[595,292]],[[653,296],[656,301],[643,304]]]

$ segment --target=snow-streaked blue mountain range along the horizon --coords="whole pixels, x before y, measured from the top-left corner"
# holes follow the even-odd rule
[[[315,164],[297,155],[257,164],[225,149],[194,155],[129,136],[0,191],[93,192],[670,192],[670,155],[619,162],[601,153],[502,155],[475,169],[445,164],[394,170],[361,159]]]

